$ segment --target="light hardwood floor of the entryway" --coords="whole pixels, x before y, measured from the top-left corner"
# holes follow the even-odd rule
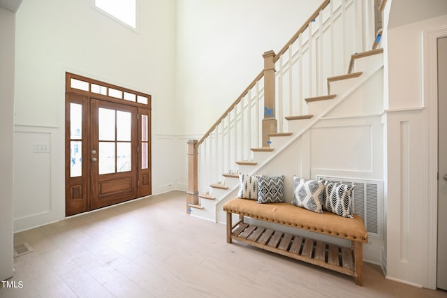
[[[15,234],[23,288],[0,297],[447,297],[388,281],[365,264],[350,276],[226,243],[225,225],[188,216],[173,191]]]

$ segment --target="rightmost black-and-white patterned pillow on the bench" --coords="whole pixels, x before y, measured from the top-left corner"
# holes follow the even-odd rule
[[[326,185],[325,195],[323,195],[324,209],[343,216],[352,216],[352,191],[355,185],[330,182]]]

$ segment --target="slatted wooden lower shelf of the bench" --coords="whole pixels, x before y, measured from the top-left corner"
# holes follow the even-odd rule
[[[242,223],[233,227],[231,239],[308,262],[349,276],[356,276],[353,249],[326,244],[292,234]]]

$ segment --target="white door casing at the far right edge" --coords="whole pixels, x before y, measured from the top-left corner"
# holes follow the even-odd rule
[[[427,204],[425,209],[425,274],[423,287],[437,289],[438,237],[438,73],[437,40],[447,37],[447,26],[423,31],[423,102],[426,109]]]

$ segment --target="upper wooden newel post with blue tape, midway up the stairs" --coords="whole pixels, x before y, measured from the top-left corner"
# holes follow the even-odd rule
[[[268,51],[264,57],[264,119],[263,119],[263,147],[269,147],[268,133],[277,133],[278,123],[274,117],[274,52]]]

